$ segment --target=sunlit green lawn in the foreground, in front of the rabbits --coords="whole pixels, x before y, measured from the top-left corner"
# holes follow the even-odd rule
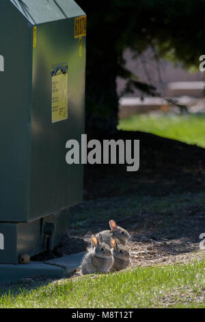
[[[0,308],[205,308],[205,262],[87,275],[36,289],[0,291]]]

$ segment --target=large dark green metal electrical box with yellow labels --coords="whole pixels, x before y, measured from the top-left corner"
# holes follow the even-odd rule
[[[0,263],[46,249],[47,222],[56,245],[82,200],[66,142],[84,132],[85,35],[73,0],[0,1]]]

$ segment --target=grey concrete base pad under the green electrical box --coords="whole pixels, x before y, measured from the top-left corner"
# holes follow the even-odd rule
[[[29,262],[28,264],[0,264],[0,284],[18,282],[25,277],[62,278],[72,273],[81,265],[85,252],[47,260],[46,262]]]

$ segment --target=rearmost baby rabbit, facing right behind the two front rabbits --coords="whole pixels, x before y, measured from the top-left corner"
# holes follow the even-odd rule
[[[130,235],[124,228],[118,226],[115,221],[111,220],[109,221],[109,226],[111,227],[111,230],[104,230],[103,232],[100,232],[99,234],[102,235],[104,243],[109,245],[111,247],[111,237],[112,238],[118,238],[120,244],[126,245],[126,242],[130,238]],[[98,238],[99,234],[96,235]]]

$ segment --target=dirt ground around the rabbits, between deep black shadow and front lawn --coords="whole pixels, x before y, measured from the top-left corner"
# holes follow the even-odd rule
[[[156,207],[159,207],[164,197],[157,198],[157,204],[154,204],[156,198],[148,198],[148,210],[146,206],[143,208],[138,206],[137,210],[135,198],[86,201],[68,213],[71,224],[70,236],[64,236],[59,246],[52,252],[40,254],[38,260],[85,251],[90,247],[92,234],[108,229],[109,219],[115,219],[131,235],[127,243],[131,251],[131,267],[200,260],[205,254],[199,247],[199,236],[205,227],[205,205],[202,204],[201,210],[197,210],[193,205],[200,203],[203,195],[189,195],[191,205],[186,202],[186,196],[178,199],[175,196],[169,197],[166,209],[163,212],[159,209],[157,213],[155,213]],[[187,208],[178,208],[184,203]],[[73,218],[75,220],[72,223]]]

